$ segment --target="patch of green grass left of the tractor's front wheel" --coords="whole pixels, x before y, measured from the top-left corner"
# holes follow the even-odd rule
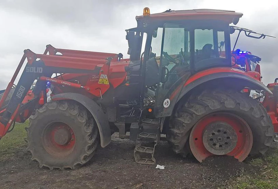
[[[26,138],[27,132],[25,127],[29,125],[29,120],[26,120],[25,123],[15,125],[14,129],[7,133],[0,140],[0,160],[6,160],[13,156],[16,153],[18,148],[26,145],[24,138]]]

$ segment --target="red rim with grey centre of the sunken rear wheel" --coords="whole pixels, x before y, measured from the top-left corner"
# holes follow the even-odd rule
[[[203,117],[195,124],[190,133],[189,145],[199,162],[209,156],[224,154],[241,162],[251,151],[253,135],[241,117],[229,112],[218,112]]]

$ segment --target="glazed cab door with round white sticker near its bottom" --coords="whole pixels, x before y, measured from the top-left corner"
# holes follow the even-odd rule
[[[191,75],[189,36],[190,32],[182,25],[164,24],[159,59],[160,81],[154,108],[156,117],[172,114],[183,85]]]

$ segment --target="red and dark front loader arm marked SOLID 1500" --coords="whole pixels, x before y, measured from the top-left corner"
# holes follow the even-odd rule
[[[47,55],[47,52],[49,55]],[[63,53],[63,55],[55,55],[57,52]],[[95,96],[99,96],[100,90],[106,91],[109,88],[109,85],[98,84],[99,86],[96,88],[99,89],[96,90],[76,83],[52,79],[51,76],[53,73],[94,73],[108,75],[110,61],[114,58],[117,58],[117,54],[55,49],[51,45],[47,45],[45,54],[35,54],[29,49],[24,50],[24,55],[0,100],[0,139],[7,133],[11,124],[21,112],[26,109],[35,109],[35,104],[39,101],[41,92],[43,92],[46,103],[46,81],[50,81],[54,85],[83,88]],[[26,59],[26,66],[11,99],[3,107]],[[37,80],[37,83],[33,89],[33,98],[23,103],[23,99],[34,80]]]

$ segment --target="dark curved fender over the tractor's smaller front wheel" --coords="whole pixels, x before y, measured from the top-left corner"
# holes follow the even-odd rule
[[[52,96],[52,100],[70,99],[82,104],[93,115],[98,125],[101,147],[107,146],[111,142],[111,132],[108,119],[102,109],[92,99],[78,93],[61,93]]]

